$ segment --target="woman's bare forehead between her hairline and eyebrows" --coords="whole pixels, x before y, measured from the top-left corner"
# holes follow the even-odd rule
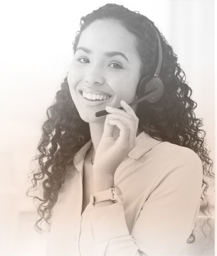
[[[82,32],[77,47],[83,46],[99,51],[120,51],[135,55],[135,42],[135,36],[118,21],[97,20]]]

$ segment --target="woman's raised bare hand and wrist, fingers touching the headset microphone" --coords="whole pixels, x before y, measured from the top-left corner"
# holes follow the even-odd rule
[[[108,181],[107,188],[114,185],[114,175],[119,164],[126,158],[136,145],[138,118],[131,106],[121,101],[124,110],[106,107],[107,114],[103,135],[93,164],[94,186]],[[119,137],[115,138],[114,127],[119,128]],[[112,184],[110,184],[112,183]],[[102,184],[100,185],[100,187]],[[97,191],[103,190],[96,189]]]

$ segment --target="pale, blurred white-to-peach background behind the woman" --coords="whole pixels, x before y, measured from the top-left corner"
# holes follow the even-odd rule
[[[25,195],[27,175],[36,168],[31,159],[71,62],[80,18],[106,3],[146,15],[173,47],[215,160],[214,0],[1,1],[0,255],[45,255],[47,234],[33,229],[37,214]],[[208,193],[214,228],[213,186]],[[214,246],[207,247],[198,233],[185,254],[214,255]]]

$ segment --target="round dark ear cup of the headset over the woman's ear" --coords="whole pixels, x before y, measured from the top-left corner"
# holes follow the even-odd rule
[[[150,103],[158,102],[163,95],[163,82],[159,77],[143,78],[137,86],[136,94],[141,98],[144,95],[151,93],[152,90],[154,90],[154,92],[147,98],[147,101]]]

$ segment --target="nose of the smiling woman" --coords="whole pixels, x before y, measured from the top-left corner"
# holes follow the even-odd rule
[[[105,78],[102,75],[102,70],[97,67],[92,67],[86,73],[85,82],[90,85],[102,85],[105,82]]]

